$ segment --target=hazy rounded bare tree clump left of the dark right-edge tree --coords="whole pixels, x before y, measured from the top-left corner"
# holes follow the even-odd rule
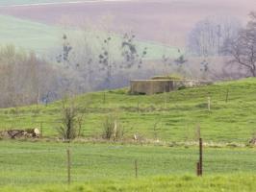
[[[235,18],[208,17],[196,23],[188,36],[188,48],[197,56],[219,56],[228,38],[237,36],[241,24]]]

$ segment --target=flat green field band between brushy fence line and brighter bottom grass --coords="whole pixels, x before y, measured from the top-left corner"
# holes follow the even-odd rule
[[[66,143],[0,141],[0,185],[66,182]],[[195,175],[197,147],[71,143],[73,182]],[[256,174],[255,148],[205,148],[204,175]],[[105,182],[104,182],[105,183]],[[1,187],[0,187],[1,188]]]

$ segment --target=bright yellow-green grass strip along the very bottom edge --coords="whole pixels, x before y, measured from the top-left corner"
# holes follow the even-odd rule
[[[67,185],[30,185],[24,187],[6,186],[1,192],[253,192],[256,188],[255,175],[218,175],[195,178],[192,176],[150,177],[139,180],[100,180],[97,182]]]

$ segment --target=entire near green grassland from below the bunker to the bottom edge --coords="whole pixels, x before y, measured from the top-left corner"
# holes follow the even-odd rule
[[[226,92],[229,96],[226,102]],[[152,96],[129,95],[127,89],[78,96],[85,113],[83,134],[87,140],[63,143],[52,139],[60,126],[61,102],[0,110],[1,129],[35,128],[42,123],[39,140],[0,140],[0,191],[237,191],[253,192],[256,148],[246,144],[255,130],[256,79],[187,88]],[[212,109],[207,110],[207,97]],[[139,103],[139,111],[138,111]],[[83,108],[83,109],[82,109]],[[102,120],[115,113],[125,129],[161,141],[155,144],[93,140],[102,132]],[[154,124],[159,122],[154,130]],[[195,177],[198,147],[175,145],[194,141],[197,125],[212,147],[203,150],[203,178]],[[218,147],[217,143],[229,143]],[[66,149],[71,150],[71,180],[66,184]],[[230,146],[230,147],[228,147]],[[135,179],[134,161],[138,160]]]

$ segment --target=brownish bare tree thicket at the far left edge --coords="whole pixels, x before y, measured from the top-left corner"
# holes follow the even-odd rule
[[[54,66],[13,45],[0,48],[0,108],[38,104],[46,92],[57,91]]]

